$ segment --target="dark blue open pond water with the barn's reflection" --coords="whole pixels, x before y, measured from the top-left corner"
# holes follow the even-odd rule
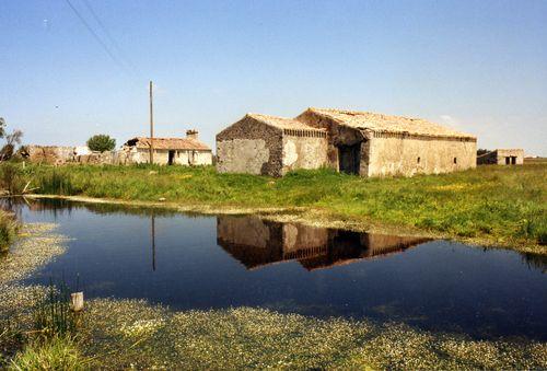
[[[30,277],[175,310],[259,306],[547,340],[545,258],[447,241],[62,200],[12,205],[67,252]]]

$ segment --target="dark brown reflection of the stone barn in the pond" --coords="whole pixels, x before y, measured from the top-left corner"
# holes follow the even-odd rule
[[[328,268],[399,253],[427,241],[280,223],[252,216],[217,218],[217,243],[247,269],[288,260],[298,260],[307,270]]]

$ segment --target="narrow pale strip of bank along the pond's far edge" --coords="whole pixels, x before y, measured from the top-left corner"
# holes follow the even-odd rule
[[[472,245],[474,247],[482,248],[498,248],[514,251],[524,254],[534,254],[547,256],[547,246],[539,244],[500,244],[498,241],[492,241],[485,237],[463,237],[457,235],[451,235],[445,233],[424,231],[418,228],[400,227],[400,225],[387,225],[374,222],[364,222],[358,220],[340,220],[335,219],[327,212],[322,211],[317,208],[310,207],[292,207],[292,208],[260,208],[260,207],[226,207],[226,206],[211,206],[207,204],[200,205],[184,205],[179,202],[172,201],[142,201],[142,200],[124,200],[124,199],[112,199],[112,198],[95,198],[88,196],[65,196],[65,195],[40,195],[40,194],[30,194],[24,195],[26,198],[31,199],[63,199],[69,201],[82,202],[82,204],[110,204],[110,205],[123,205],[128,207],[146,207],[146,208],[163,208],[170,209],[183,213],[200,213],[205,216],[213,215],[255,215],[265,220],[271,220],[277,222],[293,222],[301,223],[310,227],[316,228],[333,228],[333,229],[344,229],[354,232],[366,232],[366,233],[377,233],[377,234],[393,234],[393,235],[405,235],[405,236],[417,236],[427,237],[435,240],[447,240],[458,243],[464,243]]]

